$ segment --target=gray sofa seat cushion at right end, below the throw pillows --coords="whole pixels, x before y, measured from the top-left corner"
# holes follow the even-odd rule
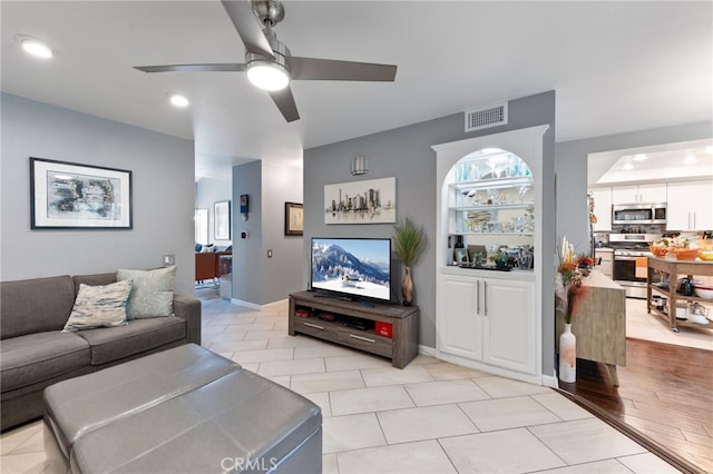
[[[176,316],[135,319],[126,326],[76,334],[91,346],[91,365],[101,365],[185,338],[186,320]]]

